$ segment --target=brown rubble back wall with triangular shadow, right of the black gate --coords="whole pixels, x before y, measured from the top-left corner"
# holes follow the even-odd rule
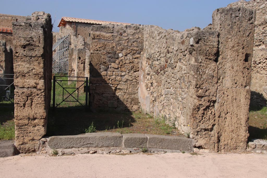
[[[91,27],[89,99],[91,110],[137,110],[143,26]]]

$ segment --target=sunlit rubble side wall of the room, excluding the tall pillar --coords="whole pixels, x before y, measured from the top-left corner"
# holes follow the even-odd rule
[[[175,124],[211,150],[214,133],[209,129],[215,124],[217,36],[218,32],[210,29],[178,32],[146,26],[145,56],[140,63],[139,101],[143,110]],[[198,138],[200,135],[202,138]]]

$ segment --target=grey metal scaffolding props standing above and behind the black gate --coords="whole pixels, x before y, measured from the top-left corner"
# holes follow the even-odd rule
[[[53,45],[53,73],[68,73],[69,67],[69,35],[58,38],[57,42]]]

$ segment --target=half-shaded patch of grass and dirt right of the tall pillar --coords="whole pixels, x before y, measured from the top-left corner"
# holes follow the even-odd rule
[[[249,112],[249,140],[267,140],[267,107]]]

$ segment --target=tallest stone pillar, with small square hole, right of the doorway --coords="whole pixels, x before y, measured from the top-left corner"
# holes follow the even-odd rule
[[[213,12],[219,32],[215,151],[242,152],[248,139],[251,61],[255,13],[220,8]]]

